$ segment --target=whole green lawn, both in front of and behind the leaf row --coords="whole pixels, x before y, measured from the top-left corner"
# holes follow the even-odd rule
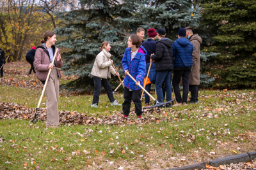
[[[0,102],[36,108],[42,90],[0,85],[0,92]],[[122,95],[114,95],[121,104]],[[122,110],[122,106],[112,107],[106,94],[100,95],[100,108],[90,108],[92,98],[63,90],[59,110],[86,112],[89,116]],[[46,129],[44,122],[33,125],[28,120],[0,120],[0,138],[4,139],[0,143],[0,169],[24,169],[26,162],[27,169],[168,169],[255,151],[255,90],[200,90],[199,99],[198,104],[166,109],[168,120],[143,125],[60,125]],[[45,102],[44,97],[41,108],[46,107]],[[207,117],[209,113],[216,118]],[[132,121],[135,117],[131,115]],[[156,111],[147,117],[164,115]],[[109,153],[111,150],[114,152]],[[31,158],[35,164],[31,164]]]

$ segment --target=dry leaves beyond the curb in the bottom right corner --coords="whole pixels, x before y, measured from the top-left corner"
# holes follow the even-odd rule
[[[232,169],[255,169],[256,168],[256,162],[239,162],[239,164],[230,164],[230,165],[224,165],[219,167],[213,167],[206,165],[206,169],[202,170],[232,170]]]

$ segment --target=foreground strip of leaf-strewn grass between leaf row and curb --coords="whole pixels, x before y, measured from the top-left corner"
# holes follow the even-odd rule
[[[213,151],[219,155],[235,154],[231,150],[236,150],[236,148],[233,149],[231,146],[236,145],[232,141],[237,134],[247,134],[244,141],[239,141],[239,147],[244,151],[252,151],[255,148],[255,141],[250,141],[248,134],[253,132],[255,135],[255,126],[252,125],[255,121],[255,115],[236,115],[221,116],[214,121],[209,118],[205,121],[193,118],[180,122],[148,125],[71,125],[70,127],[62,125],[57,129],[45,129],[45,124],[42,122],[38,122],[35,126],[25,120],[3,120],[0,123],[0,136],[5,139],[6,143],[1,143],[0,167],[21,169],[26,162],[28,162],[29,169],[34,169],[36,165],[42,169],[49,167],[86,169],[84,166],[88,167],[88,164],[93,166],[93,162],[95,166],[102,165],[103,169],[114,169],[117,164],[122,166],[124,162],[127,164],[134,162],[133,165],[130,163],[130,169],[151,167],[150,165],[156,165],[157,162],[161,163],[156,166],[156,169],[166,168],[166,165],[180,166],[198,161],[196,156],[190,157],[190,155],[195,154],[199,147],[203,152],[200,154],[202,160],[209,158],[205,152]],[[228,126],[224,127],[223,124],[228,124]],[[88,129],[93,131],[89,132]],[[77,132],[83,136],[79,136]],[[216,136],[213,136],[214,133]],[[188,139],[191,139],[191,135],[195,135],[195,140],[189,143]],[[219,147],[215,141],[212,141],[214,138],[222,143],[227,142],[227,147]],[[13,144],[16,145],[12,146]],[[50,150],[51,146],[56,150]],[[65,152],[61,152],[61,147]],[[83,150],[90,154],[81,153]],[[115,151],[109,153],[110,150]],[[122,150],[125,150],[125,153],[122,153]],[[72,155],[72,152],[77,153]],[[106,152],[106,155],[103,156],[103,152]],[[238,150],[236,152],[240,153]],[[180,156],[177,156],[177,153]],[[177,157],[177,160],[166,159],[170,157]],[[179,161],[182,157],[186,159]],[[214,158],[215,155],[210,157]],[[35,159],[36,164],[31,165],[31,158]],[[51,162],[52,159],[55,159],[54,162]],[[68,159],[68,164],[65,159]],[[148,159],[147,162],[146,159]],[[113,161],[114,164],[110,165],[106,160]],[[6,161],[12,164],[5,164]],[[135,164],[138,167],[135,167]]]

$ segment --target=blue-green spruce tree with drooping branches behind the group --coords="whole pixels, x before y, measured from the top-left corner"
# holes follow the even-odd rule
[[[68,83],[70,89],[90,90],[93,87],[90,74],[96,55],[100,52],[102,41],[111,43],[110,53],[115,66],[122,69],[122,55],[127,47],[129,34],[136,33],[138,27],[166,29],[167,38],[177,39],[180,27],[198,27],[200,22],[199,6],[192,8],[191,1],[81,1],[81,10],[58,13],[57,17],[65,22],[57,28],[58,36],[65,38],[58,46],[67,48],[64,52],[66,74],[77,74],[79,78]],[[122,70],[118,70],[124,76]],[[111,85],[118,84],[116,76]],[[114,82],[115,81],[115,82]]]

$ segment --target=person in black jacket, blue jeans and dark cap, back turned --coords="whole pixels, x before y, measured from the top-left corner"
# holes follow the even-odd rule
[[[156,54],[151,55],[153,62],[156,62],[156,94],[157,101],[164,102],[162,84],[166,88],[166,101],[172,100],[172,70],[173,70],[173,55],[172,55],[172,41],[165,38],[166,31],[159,28],[157,31]],[[170,104],[168,105],[170,106]]]

